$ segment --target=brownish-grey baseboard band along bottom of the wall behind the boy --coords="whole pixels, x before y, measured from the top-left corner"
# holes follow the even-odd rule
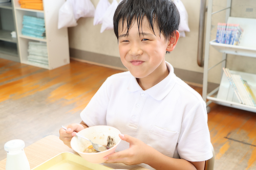
[[[109,67],[113,69],[126,71],[127,69],[123,66],[119,57],[102,55],[92,52],[86,52],[82,50],[77,50],[74,48],[70,48],[70,57],[71,59],[86,62],[94,65]],[[189,71],[180,68],[175,68],[174,72],[176,76],[181,78],[189,85],[203,87],[203,73],[196,71]],[[212,84],[212,85],[211,85]],[[208,86],[216,87],[214,83],[210,83]]]

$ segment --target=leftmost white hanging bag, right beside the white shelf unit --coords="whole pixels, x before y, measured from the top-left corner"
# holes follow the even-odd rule
[[[59,9],[58,29],[75,26],[77,26],[77,22],[73,12],[72,0],[67,0]]]

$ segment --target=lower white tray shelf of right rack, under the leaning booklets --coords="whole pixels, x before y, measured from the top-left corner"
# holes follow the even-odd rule
[[[230,70],[231,74],[238,74],[241,75],[243,80],[246,80],[247,83],[250,85],[251,90],[254,94],[256,94],[256,75],[249,74],[246,72],[240,72],[240,71],[233,71]],[[227,77],[222,75],[221,83],[219,87],[218,94],[216,96],[207,96],[207,99],[217,103],[219,105],[224,105],[232,108],[237,108],[241,110],[247,110],[251,112],[256,112],[256,107],[253,106],[247,106],[244,104],[239,103],[236,94],[234,94],[233,88],[230,86],[230,83],[227,79]]]

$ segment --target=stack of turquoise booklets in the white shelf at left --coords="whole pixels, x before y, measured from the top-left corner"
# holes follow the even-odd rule
[[[30,37],[44,39],[46,37],[45,19],[33,16],[23,16],[22,34]]]

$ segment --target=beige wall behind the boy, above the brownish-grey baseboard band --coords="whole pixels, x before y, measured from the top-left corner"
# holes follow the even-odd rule
[[[99,0],[91,0],[96,7]],[[110,0],[112,2],[113,0]],[[181,37],[176,49],[166,55],[166,61],[173,64],[175,68],[189,71],[203,72],[203,68],[197,64],[197,48],[198,48],[198,29],[199,29],[199,12],[200,0],[181,0],[184,4],[189,19],[190,32],[186,32],[186,37]],[[118,1],[119,2],[119,1]],[[252,7],[250,6],[252,4]],[[214,0],[213,11],[226,7],[226,1]],[[246,12],[247,8],[253,8],[252,12]],[[256,1],[254,0],[233,0],[231,16],[240,17],[256,17]],[[217,25],[218,22],[225,22],[225,12],[214,15],[212,24]],[[100,33],[101,25],[93,26],[93,18],[80,18],[78,26],[69,28],[69,44],[71,48],[77,50],[98,53],[108,56],[119,57],[117,40],[113,30],[107,30]],[[215,39],[216,27],[212,26],[211,39]],[[210,48],[211,60],[209,65],[221,61],[222,54],[212,47]],[[228,55],[231,58],[227,62],[227,66],[231,69],[255,72],[255,59],[244,58],[240,56]],[[244,62],[245,61],[245,62]],[[209,81],[218,83],[220,81],[220,70],[218,67],[209,72]]]

